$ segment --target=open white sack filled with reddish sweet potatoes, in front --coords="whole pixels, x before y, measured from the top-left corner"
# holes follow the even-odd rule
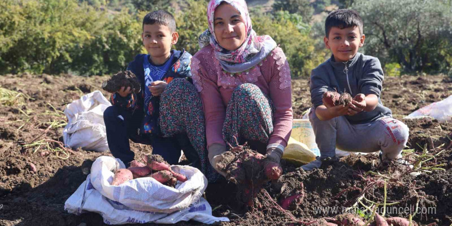
[[[158,156],[148,156],[146,164],[133,162],[129,170],[121,160],[101,156],[67,199],[65,210],[96,212],[108,224],[229,221],[212,216],[210,204],[202,198],[206,187],[207,179],[197,168],[170,166]]]

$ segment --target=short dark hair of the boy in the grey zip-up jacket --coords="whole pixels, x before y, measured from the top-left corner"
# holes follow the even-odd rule
[[[338,27],[340,29],[349,27],[358,27],[360,34],[363,34],[363,18],[355,10],[351,9],[339,9],[331,12],[325,21],[325,36],[328,37],[332,27]]]

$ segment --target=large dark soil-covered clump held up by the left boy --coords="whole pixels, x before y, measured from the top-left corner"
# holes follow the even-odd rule
[[[141,90],[140,82],[135,74],[129,70],[119,71],[102,83],[102,88],[107,92],[116,92],[121,87],[130,87],[135,93],[139,93]]]

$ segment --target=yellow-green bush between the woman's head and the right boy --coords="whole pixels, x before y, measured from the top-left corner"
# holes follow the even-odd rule
[[[325,59],[326,51],[315,51],[310,27],[288,12],[275,15],[252,15],[253,29],[258,35],[268,34],[280,44],[289,61],[292,77],[308,77],[311,70]]]

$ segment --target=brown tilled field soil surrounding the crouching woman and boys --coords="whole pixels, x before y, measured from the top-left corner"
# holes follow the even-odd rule
[[[1,78],[2,88],[22,92],[30,99],[24,104],[0,107],[0,225],[104,225],[96,213],[68,214],[64,202],[86,179],[92,162],[111,154],[62,149],[56,141],[63,141],[65,106],[86,93],[101,90],[102,82],[108,77],[17,74]],[[410,128],[405,160],[416,165],[420,159],[417,156],[436,155],[430,160],[422,157],[427,160],[421,165],[427,172],[412,177],[410,167],[401,163],[382,166],[376,154],[328,159],[321,168],[311,172],[283,161],[283,176],[265,184],[257,196],[259,205],[251,208],[237,201],[233,183],[209,184],[205,195],[214,209],[213,215],[231,219],[219,224],[307,225],[314,221],[309,225],[325,225],[326,220],[321,218],[343,214],[343,209],[353,206],[361,197],[383,203],[386,184],[386,202],[398,202],[387,206],[386,217],[408,218],[418,203],[421,211],[413,217],[416,222],[449,226],[452,223],[452,124],[429,118],[403,120],[403,117],[452,95],[452,79],[402,76],[386,78],[383,87],[383,104],[392,110],[394,118]],[[109,97],[106,91],[102,92]],[[293,80],[292,94],[294,118],[302,118],[311,106],[308,80]],[[33,145],[46,140],[54,141],[48,147]],[[149,146],[142,144],[131,143],[131,148],[137,160],[152,153]],[[428,168],[434,166],[442,170]],[[290,211],[282,210],[277,202],[294,193],[303,194],[300,204],[292,206]],[[358,206],[362,208],[361,204]],[[188,221],[176,225],[202,224]]]

